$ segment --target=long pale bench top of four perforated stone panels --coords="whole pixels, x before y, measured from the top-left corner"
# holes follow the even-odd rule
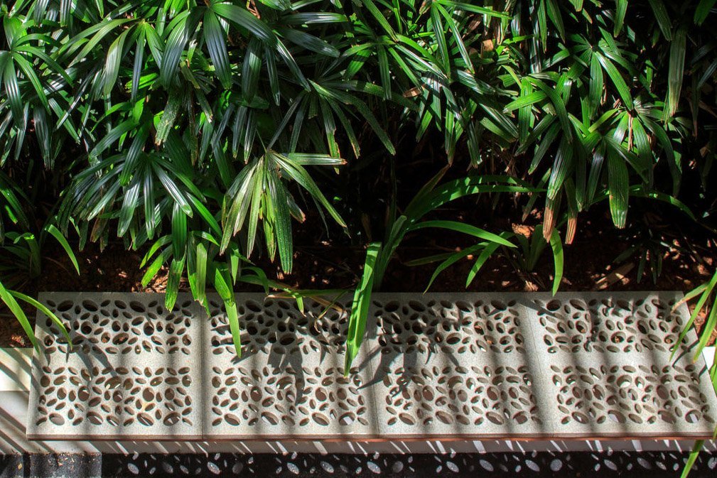
[[[341,307],[239,294],[237,358],[219,297],[48,293],[27,437],[64,440],[709,438],[681,293],[375,294],[343,376]],[[344,304],[345,306],[345,304]]]

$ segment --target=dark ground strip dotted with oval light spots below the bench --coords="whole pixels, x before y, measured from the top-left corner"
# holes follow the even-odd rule
[[[529,454],[26,454],[0,456],[0,478],[72,477],[679,477],[672,451]],[[690,478],[717,476],[702,454]]]

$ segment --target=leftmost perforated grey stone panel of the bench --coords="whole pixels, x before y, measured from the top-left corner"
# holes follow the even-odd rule
[[[51,293],[42,301],[63,322],[39,315],[44,355],[33,359],[29,438],[199,439],[200,306],[180,295]]]

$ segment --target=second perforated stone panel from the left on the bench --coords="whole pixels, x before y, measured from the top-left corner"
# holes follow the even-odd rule
[[[224,305],[209,300],[204,333],[204,436],[333,437],[377,435],[365,355],[343,376],[348,303],[237,295],[244,350],[237,359]],[[211,405],[209,405],[211,403]]]

